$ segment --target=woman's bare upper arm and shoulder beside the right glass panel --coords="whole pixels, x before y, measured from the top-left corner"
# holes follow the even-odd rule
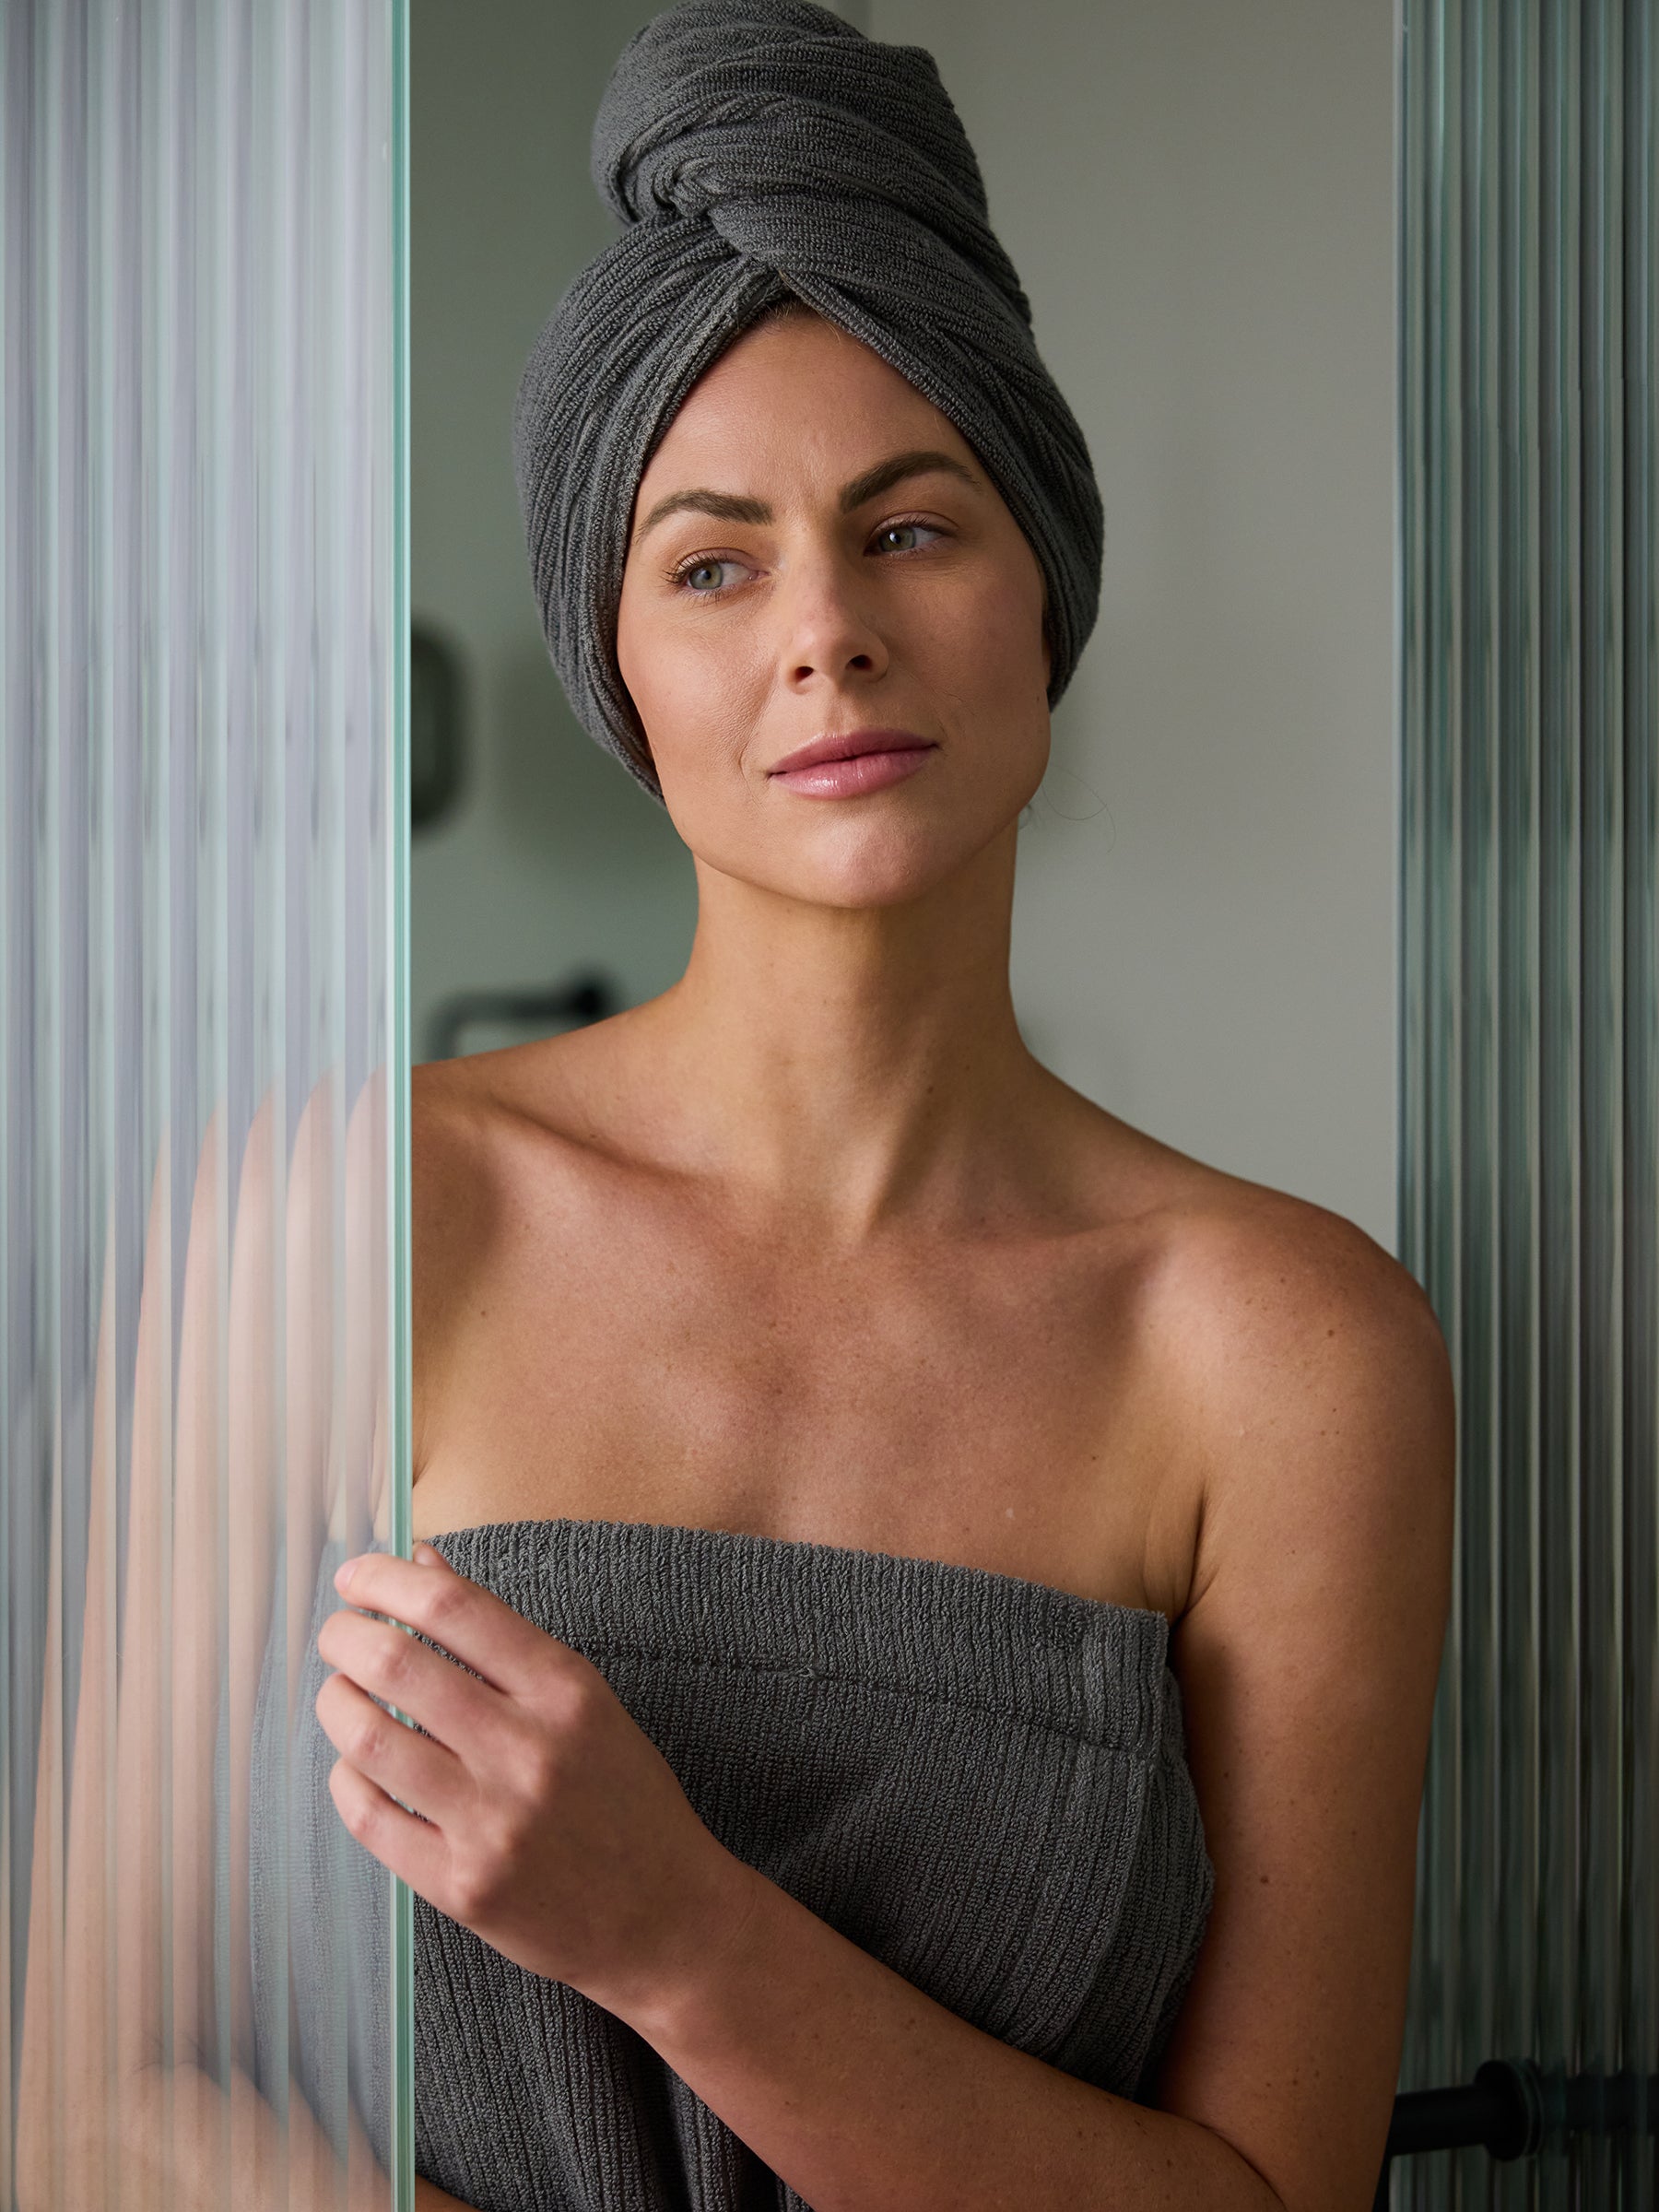
[[[1451,1367],[1416,1281],[1318,1208],[1214,1241],[1197,1298],[1208,1471],[1172,1663],[1217,1889],[1157,2104],[1287,2212],[1367,2212],[1451,1601]]]

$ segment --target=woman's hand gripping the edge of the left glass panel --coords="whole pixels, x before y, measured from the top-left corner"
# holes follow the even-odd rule
[[[316,1692],[343,1754],[334,1803],[429,1905],[622,2017],[686,1986],[741,1931],[761,1878],[703,1827],[588,1659],[429,1544],[414,1559],[345,1559],[334,1584],[442,1646],[349,1608],[316,1637],[338,1668]]]

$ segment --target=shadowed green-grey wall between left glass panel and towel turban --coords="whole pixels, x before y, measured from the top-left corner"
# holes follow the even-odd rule
[[[593,111],[630,0],[414,0],[409,27],[411,602],[462,655],[471,783],[411,856],[411,1018],[449,991],[599,960],[630,1000],[681,971],[690,858],[588,739],[531,597],[513,392],[564,285],[613,234]]]

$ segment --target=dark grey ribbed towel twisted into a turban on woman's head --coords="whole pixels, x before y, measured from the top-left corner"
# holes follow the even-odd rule
[[[635,493],[703,369],[790,294],[980,456],[1048,582],[1060,699],[1099,604],[1099,491],[931,53],[812,0],[686,0],[624,46],[593,179],[628,228],[549,316],[513,411],[542,628],[591,737],[661,799],[617,668]]]

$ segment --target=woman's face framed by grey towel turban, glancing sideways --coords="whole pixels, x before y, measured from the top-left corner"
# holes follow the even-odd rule
[[[1035,553],[938,407],[785,316],[708,369],[650,458],[617,659],[699,860],[869,907],[942,880],[1042,781],[1042,615]],[[863,768],[779,772],[869,730],[891,734]]]

